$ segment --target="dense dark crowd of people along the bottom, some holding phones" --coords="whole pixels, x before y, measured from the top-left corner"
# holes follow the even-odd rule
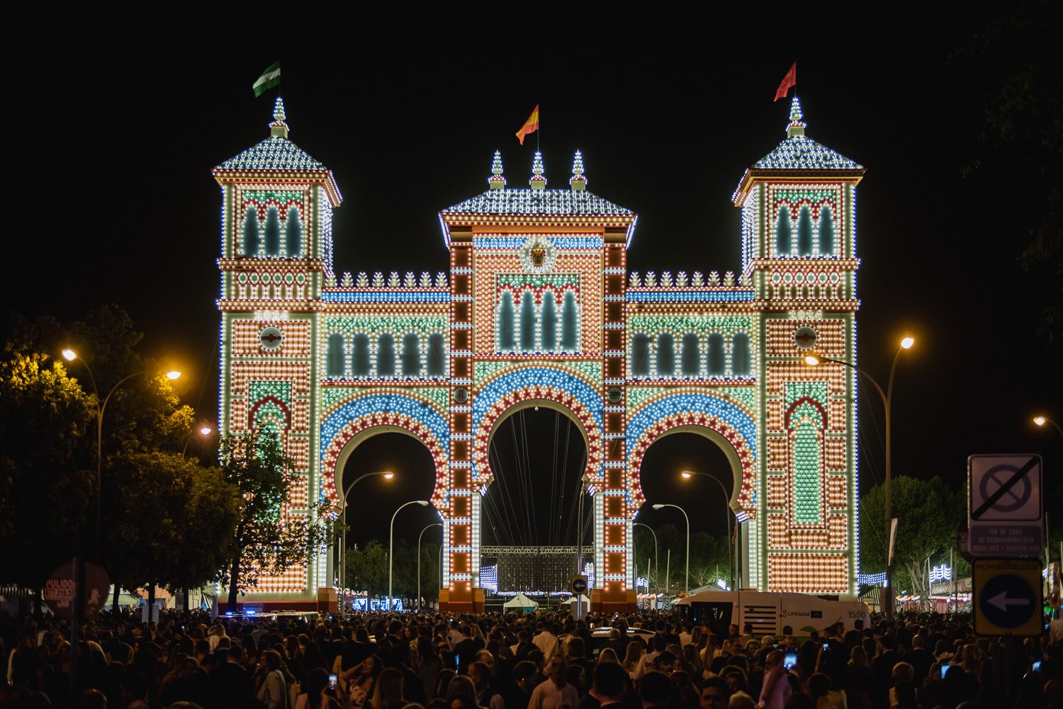
[[[1063,707],[1063,640],[966,617],[836,623],[797,640],[673,615],[164,613],[0,621],[0,706],[98,709],[917,709]],[[609,628],[607,631],[602,628]],[[636,631],[637,628],[637,631]],[[595,631],[596,630],[596,631]],[[1054,641],[1054,642],[1053,642]]]

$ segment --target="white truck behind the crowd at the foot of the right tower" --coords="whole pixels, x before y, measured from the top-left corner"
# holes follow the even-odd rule
[[[680,619],[707,625],[715,632],[726,631],[731,623],[744,631],[748,623],[757,637],[778,638],[787,626],[799,638],[839,621],[845,624],[846,630],[858,620],[863,621],[864,627],[871,623],[867,604],[862,601],[804,593],[705,591],[673,602],[672,608]]]

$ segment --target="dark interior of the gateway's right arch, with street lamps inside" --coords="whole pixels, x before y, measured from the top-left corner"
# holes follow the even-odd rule
[[[720,485],[701,475],[685,479],[682,471],[708,473]],[[655,504],[672,504],[681,507],[690,518],[690,588],[718,578],[729,580],[735,547],[728,544],[728,538],[736,528],[729,501],[735,497],[737,480],[732,462],[724,450],[698,433],[667,434],[646,449],[639,474],[646,504],[636,522],[654,530],[657,548],[655,554],[654,535],[646,527],[636,525],[638,576],[648,578],[655,590],[663,588],[665,581],[673,592],[684,590],[687,521],[675,508],[653,508]],[[671,568],[667,569],[669,556]]]

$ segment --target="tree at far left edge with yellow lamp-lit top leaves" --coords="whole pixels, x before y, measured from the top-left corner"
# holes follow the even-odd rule
[[[18,349],[0,360],[0,581],[40,589],[92,508],[92,405],[62,362]]]

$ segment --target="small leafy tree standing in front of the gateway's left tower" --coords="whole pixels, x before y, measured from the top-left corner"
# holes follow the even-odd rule
[[[233,606],[237,594],[257,585],[260,577],[307,563],[335,538],[337,510],[321,503],[309,519],[286,512],[287,490],[298,475],[272,433],[226,436],[221,440],[220,458],[222,477],[236,487],[241,500],[222,574]]]

